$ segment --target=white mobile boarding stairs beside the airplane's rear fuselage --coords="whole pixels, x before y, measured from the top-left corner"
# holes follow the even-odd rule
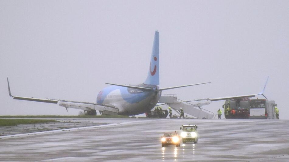
[[[198,102],[185,102],[179,100],[175,94],[162,94],[159,103],[165,103],[179,113],[179,108],[182,108],[185,113],[195,116],[199,119],[213,119],[214,113],[201,108],[200,106],[208,105],[208,100]]]

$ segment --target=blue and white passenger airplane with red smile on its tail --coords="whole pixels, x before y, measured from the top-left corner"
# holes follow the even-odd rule
[[[268,81],[268,79],[267,79]],[[106,83],[112,86],[106,87],[101,90],[97,97],[96,103],[90,102],[78,102],[69,100],[55,100],[55,99],[41,99],[34,97],[20,97],[12,96],[9,86],[9,79],[7,77],[9,96],[16,100],[28,100],[44,103],[59,103],[68,111],[68,108],[75,108],[84,110],[85,115],[96,115],[96,110],[101,114],[107,115],[138,115],[143,113],[148,113],[153,109],[159,101],[162,91],[168,89],[175,89],[187,86],[195,86],[205,83],[197,83],[183,86],[174,86],[167,88],[159,88],[159,34],[155,31],[153,47],[151,52],[151,60],[148,69],[148,75],[146,80],[137,85],[121,85],[114,83]],[[266,82],[267,83],[267,82]],[[266,87],[266,84],[265,84]],[[264,87],[264,89],[265,89]],[[256,95],[263,95],[264,89],[261,93],[242,95],[242,96],[229,96],[229,97],[219,97],[219,98],[207,98],[191,101],[201,101],[201,100],[226,100],[226,99],[239,99],[244,97],[254,97]],[[264,96],[264,95],[263,95]]]

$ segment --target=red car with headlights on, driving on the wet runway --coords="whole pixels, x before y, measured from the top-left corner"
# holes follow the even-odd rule
[[[176,132],[165,133],[162,139],[162,147],[175,145],[176,147],[180,146],[180,136]]]

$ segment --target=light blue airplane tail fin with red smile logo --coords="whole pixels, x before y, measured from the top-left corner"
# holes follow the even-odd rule
[[[158,50],[158,31],[155,31],[154,43],[151,52],[151,62],[148,76],[144,84],[159,85],[159,50]]]

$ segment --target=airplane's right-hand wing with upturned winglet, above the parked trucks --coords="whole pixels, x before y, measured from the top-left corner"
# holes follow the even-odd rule
[[[266,88],[268,79],[269,79],[269,76],[268,76],[268,78],[267,78],[267,80],[266,80],[265,86],[264,86],[264,88],[263,88],[263,90],[262,90],[261,93],[248,94],[248,95],[240,95],[240,96],[227,96],[227,97],[206,98],[206,99],[190,100],[190,101],[184,101],[184,102],[202,101],[202,100],[219,101],[219,100],[229,100],[229,99],[240,99],[240,100],[242,100],[242,99],[245,98],[245,97],[251,98],[251,97],[255,97],[255,96],[257,96],[257,95],[262,95],[262,96],[264,96],[264,97],[267,99],[267,97],[266,97],[263,93],[264,93],[264,91],[265,91],[265,88]]]

